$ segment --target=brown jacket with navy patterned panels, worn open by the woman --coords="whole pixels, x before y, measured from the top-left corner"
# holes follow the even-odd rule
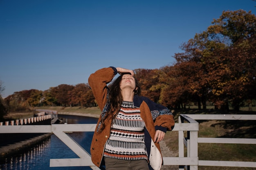
[[[103,152],[106,141],[110,137],[112,119],[107,118],[105,120],[106,127],[102,132],[98,132],[98,130],[101,126],[101,119],[108,109],[107,84],[112,81],[116,74],[117,70],[115,67],[101,68],[95,73],[91,74],[88,79],[89,86],[91,87],[97,104],[102,111],[92,138],[90,149],[92,162],[98,167],[103,164]],[[135,95],[134,105],[139,107],[141,118],[144,120],[146,125],[144,140],[149,158],[149,167],[150,169],[152,168],[154,170],[159,170],[162,165],[162,155],[159,143],[155,143],[153,139],[155,137],[156,130],[166,132],[166,130],[173,129],[173,115],[166,107],[156,104],[146,97]]]

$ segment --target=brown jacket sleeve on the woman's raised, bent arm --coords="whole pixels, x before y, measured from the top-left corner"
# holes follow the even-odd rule
[[[88,84],[101,111],[107,102],[107,84],[112,81],[116,74],[117,69],[115,67],[101,68],[92,73],[88,79]]]

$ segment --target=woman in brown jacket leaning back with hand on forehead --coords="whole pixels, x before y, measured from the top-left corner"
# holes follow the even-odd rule
[[[121,76],[108,87],[117,73]],[[108,67],[88,79],[102,110],[92,138],[92,162],[98,167],[105,162],[106,170],[159,170],[159,142],[174,126],[166,107],[139,96],[141,88],[133,76],[132,70]]]

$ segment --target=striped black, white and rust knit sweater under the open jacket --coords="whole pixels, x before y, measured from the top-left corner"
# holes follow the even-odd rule
[[[113,120],[104,157],[123,160],[148,159],[144,142],[145,123],[133,102],[123,102]]]

